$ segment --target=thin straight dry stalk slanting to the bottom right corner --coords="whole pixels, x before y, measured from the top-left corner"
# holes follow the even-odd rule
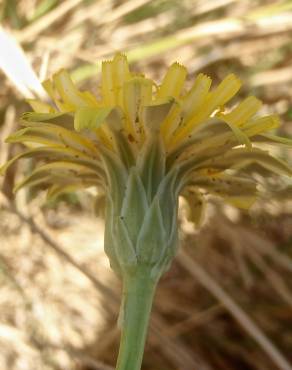
[[[285,356],[270,341],[270,339],[261,331],[256,323],[237,305],[232,297],[190,256],[181,251],[179,254],[179,263],[189,274],[198,280],[212,295],[214,295],[229,313],[237,320],[242,328],[258,343],[265,351],[267,356],[274,361],[275,365],[281,370],[292,370],[292,365]]]

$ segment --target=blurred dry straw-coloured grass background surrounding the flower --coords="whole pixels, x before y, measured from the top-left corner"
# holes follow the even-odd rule
[[[157,81],[174,61],[189,82],[204,72],[216,84],[234,72],[239,98],[255,94],[292,137],[292,1],[0,7],[0,163],[20,150],[4,139],[29,109],[24,99],[42,96],[39,80],[67,68],[97,92],[100,61],[116,51]],[[276,152],[292,165],[291,153]],[[32,167],[23,161],[0,178],[0,368],[113,369],[121,287],[103,253],[102,200],[88,191],[48,202],[38,189],[14,197]],[[156,295],[144,370],[292,369],[292,182],[258,181],[266,191],[249,213],[214,199],[199,231],[181,215],[183,248]]]

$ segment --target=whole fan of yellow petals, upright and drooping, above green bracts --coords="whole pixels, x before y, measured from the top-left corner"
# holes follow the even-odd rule
[[[80,91],[67,71],[59,71],[43,83],[54,104],[28,100],[34,112],[24,114],[24,128],[7,139],[28,150],[4,164],[0,174],[22,158],[36,157],[42,166],[15,190],[45,186],[49,196],[57,196],[96,186],[119,203],[117,194],[128,189],[127,178],[135,170],[141,175],[140,185],[146,184],[146,203],[163,178],[167,181],[160,195],[181,187],[176,194],[195,207],[189,214],[195,223],[201,220],[208,194],[249,208],[258,195],[256,181],[242,176],[242,171],[256,164],[278,175],[292,175],[286,163],[253,144],[291,145],[291,140],[269,134],[279,119],[258,116],[262,103],[257,98],[247,97],[232,109],[226,106],[241,86],[235,75],[211,88],[211,78],[201,73],[189,90],[184,88],[186,76],[186,68],[174,63],[157,85],[131,72],[127,58],[119,53],[102,63],[97,99]]]

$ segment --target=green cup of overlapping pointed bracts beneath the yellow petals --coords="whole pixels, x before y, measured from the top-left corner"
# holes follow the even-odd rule
[[[111,266],[120,275],[147,266],[158,279],[177,248],[178,169],[166,173],[164,145],[155,135],[129,169],[112,155],[104,156],[104,163],[111,187],[105,230]]]

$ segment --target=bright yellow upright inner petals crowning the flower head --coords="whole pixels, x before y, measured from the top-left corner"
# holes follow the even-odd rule
[[[225,122],[238,143],[249,148],[252,136],[278,125],[275,116],[254,118],[262,103],[253,96],[231,111],[224,111],[225,104],[241,86],[234,74],[229,74],[211,91],[211,78],[199,74],[190,90],[185,92],[186,76],[186,68],[174,63],[157,86],[143,75],[131,72],[126,56],[118,53],[112,60],[102,63],[100,101],[91,93],[80,91],[69,73],[61,70],[43,84],[56,107],[37,100],[30,100],[29,104],[43,114],[54,115],[60,111],[72,114],[76,131],[94,131],[97,139],[111,150],[114,146],[109,130],[116,108],[120,110],[119,125],[130,145],[141,147],[154,130],[161,135],[169,152],[192,140],[201,125],[212,117]]]

